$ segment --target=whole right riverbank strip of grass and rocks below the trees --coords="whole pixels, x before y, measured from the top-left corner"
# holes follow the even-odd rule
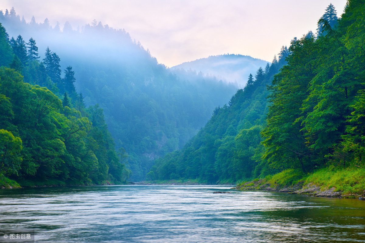
[[[324,168],[304,175],[299,170],[285,170],[264,179],[238,184],[234,189],[264,190],[292,194],[357,198],[365,196],[365,170]]]

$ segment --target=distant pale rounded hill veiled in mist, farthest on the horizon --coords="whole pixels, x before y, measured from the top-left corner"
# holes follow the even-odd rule
[[[191,69],[244,87],[250,73],[255,73],[259,67],[265,68],[267,63],[265,60],[250,56],[224,54],[188,61],[170,69]]]

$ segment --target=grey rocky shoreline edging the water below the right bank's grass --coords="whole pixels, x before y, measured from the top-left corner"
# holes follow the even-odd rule
[[[290,194],[299,194],[299,195],[307,195],[307,196],[321,196],[327,198],[339,198],[342,196],[343,191],[335,191],[335,188],[322,188],[313,183],[309,183],[304,185],[303,182],[299,182],[294,186],[276,186],[270,187],[269,183],[265,183],[265,181],[258,180],[253,182],[246,182],[245,184],[237,187],[233,187],[232,189],[241,189],[241,190],[262,190],[262,191],[274,191],[274,192],[287,192]]]

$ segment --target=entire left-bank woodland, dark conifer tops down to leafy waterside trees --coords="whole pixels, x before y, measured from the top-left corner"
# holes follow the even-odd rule
[[[86,108],[72,67],[61,78],[59,62],[49,48],[39,61],[33,38],[9,39],[0,23],[1,176],[25,184],[125,183],[126,153],[115,151],[103,110]]]

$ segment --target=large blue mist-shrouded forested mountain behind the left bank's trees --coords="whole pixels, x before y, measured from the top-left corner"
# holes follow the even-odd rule
[[[38,60],[49,69],[52,82],[37,83],[27,73],[23,73],[24,81],[56,93],[67,92],[76,101],[66,85],[70,82],[65,83],[66,76],[61,78],[59,72],[72,67],[76,91],[87,105],[99,104],[117,150],[126,150],[132,180],[143,179],[155,158],[182,148],[204,126],[214,107],[223,105],[237,90],[215,77],[171,72],[126,31],[97,21],[77,31],[66,22],[61,32],[59,24],[52,28],[47,19],[41,24],[34,18],[26,23],[14,8],[0,13],[10,43],[11,36],[16,42],[18,35],[37,41]],[[47,60],[57,60],[57,67],[48,67]]]

